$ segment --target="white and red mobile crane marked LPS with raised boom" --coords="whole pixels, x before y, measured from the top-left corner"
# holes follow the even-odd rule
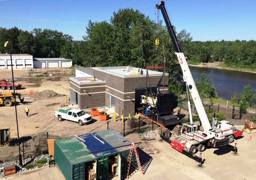
[[[203,131],[197,130],[196,125],[193,124],[192,116],[190,116],[190,122],[183,124],[181,127],[181,135],[174,138],[174,140],[166,140],[166,141],[169,142],[174,149],[182,153],[185,153],[187,155],[195,154],[197,150],[200,152],[203,152],[207,146],[218,148],[221,146],[228,145],[228,143],[231,143],[231,142],[229,141],[229,138],[225,135],[225,132],[221,128],[221,126],[215,125],[211,127],[210,125],[210,122],[204,110],[203,103],[196,89],[195,82],[189,70],[188,63],[180,47],[179,41],[177,39],[177,36],[175,34],[171,21],[168,17],[164,4],[165,4],[164,1],[161,1],[159,4],[156,4],[156,8],[158,11],[161,10],[163,14],[164,21],[166,23],[169,35],[174,45],[175,54],[179,60],[180,67],[182,69],[183,80],[186,83],[186,87],[191,94],[191,97],[196,106],[196,110],[200,118],[201,124],[204,128]],[[189,104],[190,103],[188,102],[188,105]],[[189,109],[190,108],[191,107],[189,106]],[[191,114],[191,110],[189,110],[189,113]],[[224,127],[224,125],[222,125],[222,127]],[[225,129],[232,130],[233,132],[236,131],[236,129],[234,129],[233,126],[228,124],[225,124]],[[240,134],[241,133],[239,132],[239,135]]]

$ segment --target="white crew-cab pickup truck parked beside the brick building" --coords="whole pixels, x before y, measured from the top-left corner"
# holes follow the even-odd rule
[[[59,121],[66,119],[78,122],[80,126],[92,121],[92,116],[90,114],[86,114],[84,111],[78,109],[60,109],[59,111],[54,112],[54,116],[58,117]]]

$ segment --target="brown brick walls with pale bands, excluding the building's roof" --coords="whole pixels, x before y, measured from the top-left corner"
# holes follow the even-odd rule
[[[125,117],[127,117],[129,113],[132,116],[134,115],[135,104],[131,99],[128,99],[127,96],[130,96],[132,99],[134,99],[135,88],[146,87],[147,77],[145,75],[141,75],[139,77],[138,76],[120,77],[113,74],[101,72],[97,69],[93,69],[93,76],[95,76],[96,79],[99,79],[101,81],[106,81],[106,83],[82,84],[81,87],[83,88],[81,89],[80,88],[78,89],[76,86],[70,83],[70,87],[77,89],[77,91],[81,94],[81,95],[78,95],[79,97],[81,96],[81,98],[78,98],[79,108],[86,109],[86,108],[94,108],[94,107],[102,107],[102,106],[106,106],[109,108],[109,96],[112,95],[113,97],[115,97],[116,113],[118,113],[119,107],[120,107],[121,114],[124,113]],[[150,76],[147,86],[149,87],[151,85],[151,87],[156,87],[161,77],[162,75]],[[165,75],[165,79],[163,78],[161,84],[165,84],[165,86],[168,86],[168,75]],[[97,87],[97,86],[104,86],[104,85],[106,85],[106,87]],[[95,86],[95,87],[92,87],[92,86]],[[160,89],[162,88],[160,87]],[[84,93],[84,90],[86,90],[91,96],[89,96],[87,93]],[[164,91],[167,92],[167,90],[168,89],[166,87]],[[96,93],[96,92],[105,92],[105,91],[107,93]]]

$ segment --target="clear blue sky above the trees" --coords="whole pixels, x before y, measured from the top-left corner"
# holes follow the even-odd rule
[[[138,9],[155,20],[153,0],[0,0],[0,27],[52,29],[82,40],[88,21],[109,22],[119,9]],[[256,40],[255,0],[165,0],[177,32],[194,41]],[[156,17],[157,18],[157,17]],[[160,20],[163,20],[160,14]],[[165,25],[165,24],[164,24]]]

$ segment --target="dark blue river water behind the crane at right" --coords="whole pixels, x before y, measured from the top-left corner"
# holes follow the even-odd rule
[[[196,81],[197,77],[198,81],[200,81],[200,76],[203,72],[206,73],[206,76],[210,75],[219,98],[230,100],[235,92],[237,92],[240,97],[244,86],[248,84],[251,84],[251,88],[256,88],[256,73],[207,67],[189,67],[194,81]]]

